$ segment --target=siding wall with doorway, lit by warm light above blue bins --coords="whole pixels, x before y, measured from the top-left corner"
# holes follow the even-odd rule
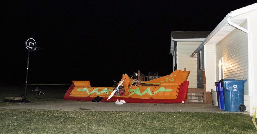
[[[246,28],[246,21],[242,27]],[[247,33],[233,30],[216,45],[216,80],[219,80],[218,60],[223,57],[224,79],[248,79]],[[248,95],[248,82],[244,85]]]

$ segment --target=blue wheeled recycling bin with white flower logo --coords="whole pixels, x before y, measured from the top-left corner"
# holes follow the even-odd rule
[[[226,111],[245,111],[244,83],[247,80],[222,79],[220,80],[224,91],[224,104]]]

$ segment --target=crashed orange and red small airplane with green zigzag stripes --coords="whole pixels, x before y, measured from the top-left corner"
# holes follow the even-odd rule
[[[127,103],[184,103],[187,98],[187,81],[190,71],[175,70],[150,81],[139,81],[122,75],[121,81],[113,87],[91,87],[89,81],[72,81],[64,100],[101,101],[124,100]]]

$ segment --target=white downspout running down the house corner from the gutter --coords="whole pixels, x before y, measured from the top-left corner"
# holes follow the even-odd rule
[[[245,33],[248,34],[248,75],[249,75],[249,87],[252,89],[252,101],[253,101],[253,108],[256,108],[256,101],[255,101],[255,87],[254,87],[254,67],[253,67],[253,52],[252,52],[252,33],[244,29],[243,27],[236,25],[235,23],[230,21],[230,18],[228,18],[228,24],[241,30],[244,31]],[[248,28],[250,29],[250,28]],[[253,109],[252,114],[254,114],[255,109]]]

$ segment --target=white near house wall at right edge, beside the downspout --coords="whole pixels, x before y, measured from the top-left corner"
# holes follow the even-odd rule
[[[254,64],[254,81],[255,83],[255,98],[256,98],[256,104],[257,104],[257,11],[253,11],[250,13],[246,13],[244,15],[238,16],[236,18],[249,18],[248,21],[250,23],[250,32],[252,34],[252,51],[253,51],[253,64]],[[250,91],[251,93],[251,91]],[[251,94],[252,95],[252,94]],[[252,103],[250,104],[250,101],[252,101],[252,96],[244,95],[244,105],[246,105],[246,111],[248,111],[248,105],[250,110],[250,115],[252,115]]]

